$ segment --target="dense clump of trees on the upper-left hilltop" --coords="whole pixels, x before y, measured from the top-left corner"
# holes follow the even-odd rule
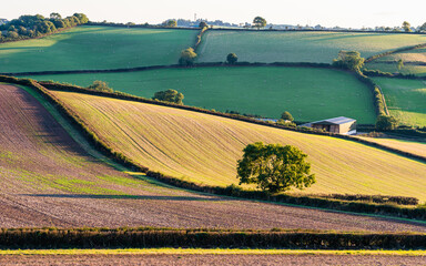
[[[50,18],[41,14],[21,16],[6,24],[0,25],[0,41],[16,41],[37,38],[43,34],[57,32],[60,29],[85,24],[89,19],[83,13],[74,13],[62,19],[59,13],[51,13]]]

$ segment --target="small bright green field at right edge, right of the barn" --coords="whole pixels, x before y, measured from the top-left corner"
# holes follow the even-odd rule
[[[375,78],[392,115],[402,124],[426,125],[426,81]]]

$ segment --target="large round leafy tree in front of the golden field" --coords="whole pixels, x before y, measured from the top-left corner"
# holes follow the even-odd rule
[[[248,144],[237,163],[241,184],[256,184],[270,193],[288,191],[292,186],[303,190],[314,184],[307,156],[295,146],[280,144]]]

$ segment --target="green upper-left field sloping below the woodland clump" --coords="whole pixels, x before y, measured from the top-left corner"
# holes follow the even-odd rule
[[[178,63],[196,30],[78,27],[0,44],[0,72],[119,69]]]

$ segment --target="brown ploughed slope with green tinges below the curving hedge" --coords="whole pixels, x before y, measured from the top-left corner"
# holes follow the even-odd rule
[[[22,89],[0,85],[0,227],[166,226],[426,232],[426,225],[200,195],[106,166]]]

